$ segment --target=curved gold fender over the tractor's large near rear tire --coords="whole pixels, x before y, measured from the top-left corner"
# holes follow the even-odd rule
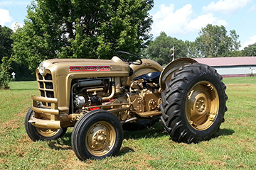
[[[171,79],[171,75],[174,72],[177,72],[180,67],[183,67],[184,65],[191,64],[196,62],[196,60],[193,60],[191,58],[179,58],[177,60],[174,60],[173,62],[170,62],[161,72],[160,78],[159,78],[159,85],[162,90],[166,88],[166,81],[169,81]]]

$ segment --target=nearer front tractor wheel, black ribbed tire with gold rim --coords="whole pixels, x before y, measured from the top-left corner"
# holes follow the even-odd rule
[[[119,152],[123,140],[122,125],[105,110],[90,111],[78,120],[71,143],[78,159],[103,159]]]

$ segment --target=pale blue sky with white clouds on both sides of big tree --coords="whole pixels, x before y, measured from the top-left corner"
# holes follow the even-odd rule
[[[28,0],[0,0],[0,25],[23,26]],[[253,0],[155,0],[150,11],[154,38],[164,31],[181,40],[193,41],[208,23],[225,26],[240,35],[241,49],[256,42],[256,1]]]

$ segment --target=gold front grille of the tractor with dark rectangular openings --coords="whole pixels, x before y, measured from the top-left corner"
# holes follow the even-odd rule
[[[46,74],[46,76],[38,73],[38,90],[42,97],[54,98],[53,92],[53,77],[51,74]],[[51,106],[51,103],[42,102],[44,106]]]

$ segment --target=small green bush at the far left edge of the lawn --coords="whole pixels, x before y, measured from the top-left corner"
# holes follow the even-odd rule
[[[0,89],[10,89],[9,82],[11,77],[9,70],[11,67],[11,60],[9,57],[3,57],[0,64]]]

